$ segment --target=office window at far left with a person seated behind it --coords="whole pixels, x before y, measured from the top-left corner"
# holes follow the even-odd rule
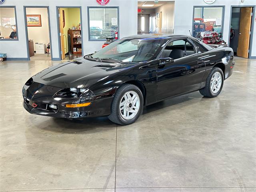
[[[7,39],[18,39],[14,7],[0,7],[0,40]]]

